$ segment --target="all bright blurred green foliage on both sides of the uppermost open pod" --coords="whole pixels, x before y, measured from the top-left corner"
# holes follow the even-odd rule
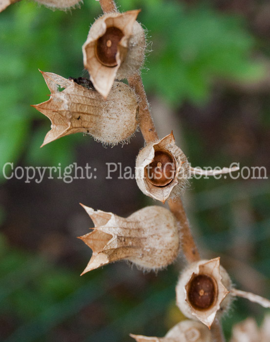
[[[143,81],[148,93],[161,96],[171,107],[185,100],[205,103],[214,79],[247,82],[263,75],[263,65],[251,60],[254,39],[240,17],[206,4],[187,7],[178,1],[120,0],[118,4],[123,11],[142,9],[139,21],[152,42]],[[1,171],[4,163],[18,162],[22,156],[32,165],[72,161],[82,135],[62,138],[40,150],[50,123],[29,106],[45,101],[49,92],[38,68],[63,77],[87,76],[82,45],[100,13],[94,0],[67,12],[23,0],[0,14]],[[0,180],[4,180],[2,172]]]

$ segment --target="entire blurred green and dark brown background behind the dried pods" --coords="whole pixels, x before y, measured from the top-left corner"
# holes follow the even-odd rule
[[[160,137],[173,129],[192,166],[269,170],[269,1],[117,3],[142,9],[152,42],[142,77]],[[22,0],[0,13],[0,341],[131,342],[129,333],[164,336],[184,319],[174,291],[183,257],[157,275],[118,262],[80,277],[91,250],[76,236],[93,224],[79,203],[125,217],[153,204],[135,180],[105,179],[107,162],[134,167],[141,133],[112,149],[83,134],[40,149],[50,122],[30,107],[48,99],[38,68],[87,76],[82,45],[100,14],[94,0],[66,12]],[[88,163],[97,179],[6,180],[6,162]],[[269,181],[194,179],[184,200],[202,256],[221,256],[237,288],[270,298]],[[227,339],[233,324],[266,313],[238,299]]]

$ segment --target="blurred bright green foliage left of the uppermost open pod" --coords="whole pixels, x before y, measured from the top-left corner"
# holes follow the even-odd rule
[[[3,165],[16,166],[22,153],[22,163],[30,165],[74,161],[82,134],[40,149],[51,123],[30,105],[48,100],[49,89],[39,68],[64,77],[84,76],[82,45],[100,5],[89,1],[82,6],[63,12],[20,1],[0,13],[0,182],[5,180]]]

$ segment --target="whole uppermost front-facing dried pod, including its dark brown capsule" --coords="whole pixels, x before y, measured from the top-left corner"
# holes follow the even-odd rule
[[[83,44],[83,63],[105,98],[115,78],[138,71],[145,56],[145,33],[136,21],[140,10],[107,13],[93,23]]]

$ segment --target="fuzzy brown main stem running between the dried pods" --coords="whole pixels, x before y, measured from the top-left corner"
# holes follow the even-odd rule
[[[117,11],[115,2],[113,0],[100,0],[100,5],[103,12]],[[156,131],[145,94],[145,87],[143,85],[142,78],[139,74],[134,74],[128,78],[128,84],[134,88],[136,94],[140,98],[139,103],[139,125],[141,132],[144,136],[145,143],[150,144],[159,139]],[[187,221],[187,215],[185,213],[181,198],[177,198],[175,201],[168,200],[169,208],[172,214],[180,222],[182,227],[182,248],[188,262],[200,260],[200,255],[196,247],[195,241],[190,231],[190,227]],[[225,342],[221,324],[218,320],[215,320],[211,327],[211,334],[213,341]]]

